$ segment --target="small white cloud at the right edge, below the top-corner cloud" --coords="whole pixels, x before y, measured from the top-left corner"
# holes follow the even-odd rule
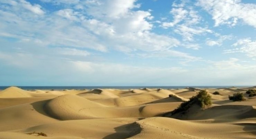
[[[248,57],[256,57],[256,40],[251,40],[251,38],[240,39],[232,46],[236,48],[225,50],[224,53],[241,52]]]

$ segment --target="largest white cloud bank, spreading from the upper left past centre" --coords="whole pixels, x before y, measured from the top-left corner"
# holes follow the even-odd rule
[[[152,19],[150,11],[132,10],[140,7],[136,0],[43,2],[66,4],[69,8],[51,13],[47,11],[44,17],[38,17],[23,11],[21,5],[2,7],[1,35],[18,41],[36,42],[40,46],[87,48],[102,52],[110,49],[122,52],[159,51],[177,47],[180,43],[175,38],[152,33],[153,24],[148,21]],[[85,9],[77,10],[77,5]]]

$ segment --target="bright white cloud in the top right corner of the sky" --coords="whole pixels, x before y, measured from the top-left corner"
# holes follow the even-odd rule
[[[198,0],[197,5],[212,15],[215,26],[222,24],[235,26],[241,19],[244,23],[256,28],[255,4],[245,4],[241,0]]]

